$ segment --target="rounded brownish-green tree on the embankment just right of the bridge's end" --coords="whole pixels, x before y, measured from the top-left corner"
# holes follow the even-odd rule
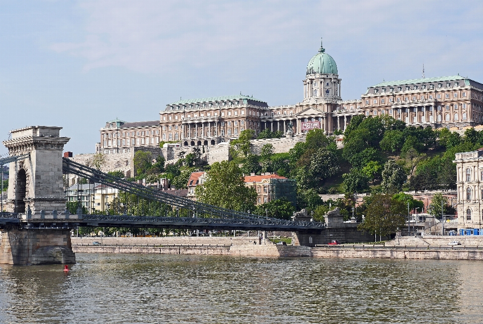
[[[367,206],[364,223],[359,224],[358,229],[387,236],[405,225],[406,213],[403,202],[393,199],[389,194],[374,194]]]

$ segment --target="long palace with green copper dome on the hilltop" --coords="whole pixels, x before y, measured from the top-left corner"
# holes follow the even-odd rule
[[[256,135],[266,129],[300,135],[315,128],[333,134],[344,131],[355,115],[389,115],[435,128],[483,124],[483,84],[459,75],[381,82],[356,100],[342,100],[341,92],[337,64],[320,47],[307,64],[299,103],[269,106],[242,94],[178,100],[166,105],[158,121],[106,123],[96,151],[131,152],[160,142],[213,146],[246,129]]]

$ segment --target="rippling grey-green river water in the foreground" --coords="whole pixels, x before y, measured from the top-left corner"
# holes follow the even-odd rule
[[[1,323],[481,323],[479,261],[77,254],[0,267]]]

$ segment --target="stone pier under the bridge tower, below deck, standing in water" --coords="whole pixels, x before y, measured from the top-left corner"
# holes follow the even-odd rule
[[[1,234],[0,263],[2,264],[75,263],[69,230],[14,229],[4,230]]]

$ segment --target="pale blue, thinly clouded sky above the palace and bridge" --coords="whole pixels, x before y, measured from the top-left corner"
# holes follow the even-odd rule
[[[481,17],[476,0],[0,0],[0,140],[60,126],[66,151],[93,153],[107,121],[158,120],[180,98],[295,104],[320,42],[344,100],[423,64],[483,82]]]

